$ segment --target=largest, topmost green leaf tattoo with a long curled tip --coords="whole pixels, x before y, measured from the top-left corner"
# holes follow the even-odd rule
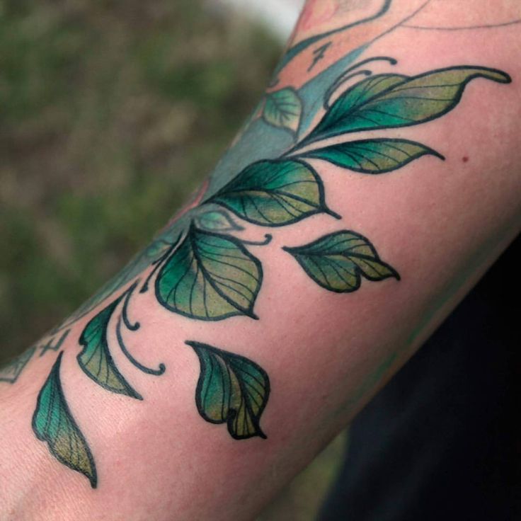
[[[408,127],[439,118],[459,103],[466,84],[480,77],[498,83],[511,81],[502,71],[468,66],[418,76],[372,76],[341,94],[304,142],[357,130]]]

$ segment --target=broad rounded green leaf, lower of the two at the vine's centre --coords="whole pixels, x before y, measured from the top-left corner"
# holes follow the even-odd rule
[[[156,297],[166,309],[191,319],[222,320],[253,314],[263,271],[239,239],[193,224],[156,277]]]

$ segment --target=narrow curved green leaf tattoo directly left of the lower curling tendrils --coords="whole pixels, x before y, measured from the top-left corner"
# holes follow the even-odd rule
[[[134,285],[135,286],[135,285]],[[132,286],[132,287],[134,287]],[[125,378],[116,367],[110,350],[108,348],[108,324],[113,313],[125,297],[127,292],[123,293],[115,299],[114,302],[108,304],[102,309],[91,321],[85,326],[81,333],[79,343],[84,346],[77,359],[82,370],[87,376],[101,385],[104,389],[118,394],[126,394],[132,398],[142,399],[132,387],[127,383]]]

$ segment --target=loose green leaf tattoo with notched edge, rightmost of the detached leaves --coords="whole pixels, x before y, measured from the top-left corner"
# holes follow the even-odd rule
[[[296,248],[283,248],[291,253],[305,272],[326,290],[337,293],[356,291],[362,276],[383,280],[400,276],[379,258],[368,239],[354,231],[336,231]]]

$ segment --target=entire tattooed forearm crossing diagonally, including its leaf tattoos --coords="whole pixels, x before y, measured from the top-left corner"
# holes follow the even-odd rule
[[[519,230],[489,10],[307,3],[193,199],[0,369],[2,520],[252,519],[349,423]]]

